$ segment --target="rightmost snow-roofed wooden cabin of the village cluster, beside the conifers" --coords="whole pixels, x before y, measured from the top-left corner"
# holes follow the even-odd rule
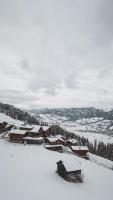
[[[86,146],[71,146],[70,149],[75,153],[76,155],[88,159],[88,152],[89,149]]]

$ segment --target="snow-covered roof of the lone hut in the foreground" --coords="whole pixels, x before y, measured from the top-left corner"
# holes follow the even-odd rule
[[[68,172],[81,170],[80,162],[76,161],[75,159],[65,159],[63,160],[63,164]]]

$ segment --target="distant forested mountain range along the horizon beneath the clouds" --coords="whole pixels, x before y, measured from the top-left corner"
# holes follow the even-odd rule
[[[75,121],[80,118],[102,117],[104,119],[113,120],[113,109],[105,111],[103,109],[88,108],[56,108],[56,109],[36,109],[30,111],[38,118],[40,114],[54,115],[59,117],[66,117],[69,121]]]

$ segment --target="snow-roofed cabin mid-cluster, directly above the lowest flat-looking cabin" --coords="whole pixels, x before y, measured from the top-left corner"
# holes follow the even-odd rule
[[[45,140],[45,143],[50,145],[64,145],[65,141],[62,138],[58,137],[47,137]]]

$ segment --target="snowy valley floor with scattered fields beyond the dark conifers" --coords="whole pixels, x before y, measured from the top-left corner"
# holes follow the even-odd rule
[[[40,114],[40,118],[48,124],[57,124],[69,132],[73,132],[81,137],[88,138],[90,142],[113,143],[113,132],[107,130],[110,126],[110,120],[103,118],[82,118],[79,120],[68,121],[66,117],[60,117],[51,114]]]

